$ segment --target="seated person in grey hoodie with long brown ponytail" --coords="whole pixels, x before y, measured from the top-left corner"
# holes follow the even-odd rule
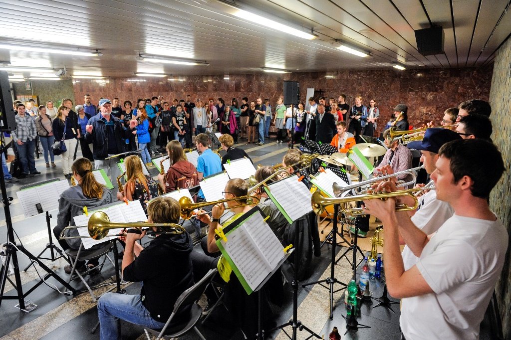
[[[59,199],[59,213],[57,215],[57,226],[53,229],[55,237],[59,240],[59,244],[62,249],[79,249],[81,240],[75,239],[64,239],[61,240],[60,233],[68,225],[75,226],[73,217],[83,214],[83,207],[87,209],[96,208],[112,202],[112,193],[106,186],[100,184],[94,175],[92,175],[92,164],[87,158],[78,158],[71,167],[73,176],[75,177],[76,186],[72,186],[64,190],[60,194]],[[71,229],[66,236],[78,236],[78,230]],[[94,246],[91,249],[94,249]],[[99,260],[90,260],[87,266],[94,268],[99,263]],[[66,265],[64,271],[69,274],[71,273],[72,266]],[[77,263],[77,270],[79,272],[85,272],[85,261]],[[91,272],[91,274],[94,274]]]

